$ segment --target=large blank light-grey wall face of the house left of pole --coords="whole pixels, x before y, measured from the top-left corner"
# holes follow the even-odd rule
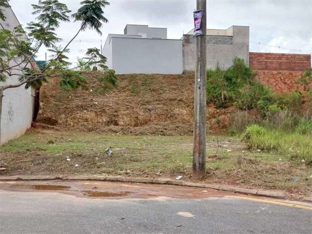
[[[112,38],[116,74],[181,74],[182,40]]]

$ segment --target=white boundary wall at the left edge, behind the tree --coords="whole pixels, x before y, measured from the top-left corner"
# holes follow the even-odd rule
[[[5,9],[4,13],[7,20],[5,22],[0,20],[1,29],[12,30],[20,24],[11,8]],[[14,63],[12,62],[11,65]],[[8,77],[4,83],[0,82],[0,85],[16,83],[18,83],[18,77],[12,76]],[[4,91],[0,143],[20,137],[31,126],[33,116],[32,90],[25,90],[24,87],[25,85]]]

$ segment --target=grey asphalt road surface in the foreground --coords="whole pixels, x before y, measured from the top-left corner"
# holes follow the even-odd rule
[[[112,184],[105,184],[104,187],[107,190]],[[24,185],[23,189],[19,187],[19,190],[16,190],[17,187],[15,190],[3,187],[3,183],[0,186],[0,233],[312,233],[312,210],[308,207],[273,204],[269,200],[258,201],[257,198],[242,199],[225,194],[211,196],[208,191],[203,192],[205,198],[172,198],[166,195],[103,199],[59,191],[37,191],[27,186]],[[90,186],[97,188],[92,183]],[[98,184],[96,186],[104,189]],[[118,183],[114,186],[115,191],[118,187],[127,187]],[[130,187],[147,195],[149,190],[152,194],[156,193],[152,186]],[[166,190],[164,187],[159,188]],[[178,186],[171,186],[167,192],[174,197],[175,190],[181,193]]]

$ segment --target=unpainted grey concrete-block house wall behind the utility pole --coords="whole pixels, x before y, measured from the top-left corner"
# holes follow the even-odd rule
[[[214,35],[206,36],[207,69],[215,68],[217,64],[223,68],[228,68],[232,66],[235,57],[244,59],[248,64],[249,27],[232,26],[223,31],[217,30],[213,32]],[[224,36],[231,34],[233,36]],[[195,48],[194,36],[191,34],[183,35],[183,71],[195,71]]]

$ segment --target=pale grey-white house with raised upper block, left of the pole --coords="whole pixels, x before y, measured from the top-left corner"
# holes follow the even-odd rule
[[[166,28],[127,24],[124,34],[109,34],[102,54],[116,74],[180,74],[182,40],[167,39]]]

